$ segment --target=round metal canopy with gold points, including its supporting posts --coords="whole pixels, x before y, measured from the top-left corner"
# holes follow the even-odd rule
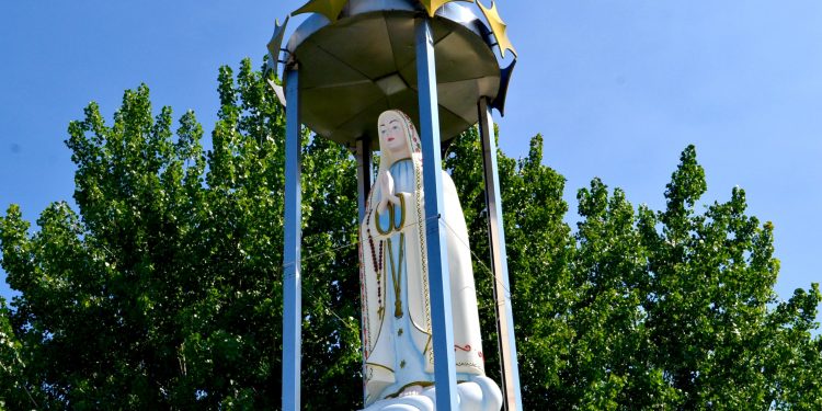
[[[486,168],[489,233],[501,372],[506,411],[522,409],[505,238],[499,204],[499,174],[492,138],[491,109],[502,114],[516,59],[500,69],[494,47],[516,56],[495,3],[479,9],[486,25],[458,0],[309,0],[295,13],[315,13],[288,42],[279,60],[287,19],[275,24],[267,44],[269,69],[285,62],[284,87],[270,82],[288,107],[286,125],[286,208],[284,247],[283,409],[300,408],[301,276],[300,276],[300,127],[342,142],[357,156],[361,220],[370,186],[372,150],[378,148],[377,118],[401,110],[416,123],[425,165],[426,220],[442,215],[442,168],[437,142],[445,142],[480,123]],[[471,2],[473,0],[463,0]],[[444,5],[443,5],[444,4]],[[442,5],[442,7],[441,7]],[[436,15],[431,16],[431,12]],[[418,92],[419,90],[419,92]],[[285,94],[285,98],[283,98]],[[438,225],[426,243],[432,299],[433,349],[436,359],[436,402],[457,410],[456,372],[447,253]],[[439,232],[439,233],[438,233]],[[439,241],[435,240],[438,239]],[[501,289],[498,289],[501,285]]]

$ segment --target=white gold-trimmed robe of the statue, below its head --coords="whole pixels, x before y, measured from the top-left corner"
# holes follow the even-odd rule
[[[434,381],[431,304],[421,158],[390,165],[401,204],[378,215],[376,185],[361,226],[361,286],[365,403]],[[484,375],[468,230],[450,176],[443,172],[445,233],[450,275],[454,350],[458,380]],[[392,220],[391,220],[392,219]]]

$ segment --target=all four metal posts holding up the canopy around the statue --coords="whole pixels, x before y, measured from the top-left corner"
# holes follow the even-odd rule
[[[439,152],[439,113],[436,88],[434,41],[427,18],[419,18],[416,31],[416,70],[420,104],[420,137],[423,150],[425,186],[426,253],[431,284],[431,312],[435,359],[437,410],[458,410],[450,279],[445,232],[441,224],[443,205],[442,153]],[[300,409],[302,286],[301,256],[301,122],[299,113],[299,73],[287,69],[286,78],[286,158],[285,158],[285,247],[283,253],[283,410]],[[489,210],[489,237],[494,271],[498,334],[505,409],[522,410],[520,373],[516,361],[514,322],[511,309],[507,256],[500,198],[496,145],[488,101],[478,105],[486,173],[486,203]],[[357,199],[359,220],[372,183],[370,141],[356,142]],[[434,201],[432,201],[434,199]]]

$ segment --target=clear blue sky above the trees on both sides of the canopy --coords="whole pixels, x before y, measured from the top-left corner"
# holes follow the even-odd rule
[[[33,221],[49,202],[71,199],[62,140],[90,101],[111,119],[123,91],[146,82],[157,109],[171,105],[178,116],[193,109],[210,132],[217,68],[246,56],[259,65],[274,19],[301,2],[3,2],[0,209],[18,203]],[[663,207],[680,152],[695,144],[706,202],[726,201],[739,185],[750,213],[774,221],[778,294],[822,279],[822,2],[499,0],[499,8],[521,56],[500,119],[502,149],[525,156],[541,133],[545,162],[568,178],[573,210],[576,190],[594,176],[635,204]],[[0,282],[0,295],[10,293]]]

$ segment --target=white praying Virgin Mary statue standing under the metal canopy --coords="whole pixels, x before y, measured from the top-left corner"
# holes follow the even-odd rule
[[[361,286],[366,411],[434,410],[426,225],[420,137],[402,112],[379,116],[380,162],[361,225]],[[460,409],[499,411],[499,387],[484,377],[468,230],[450,176],[443,172],[454,350]],[[397,408],[400,407],[400,408]]]

